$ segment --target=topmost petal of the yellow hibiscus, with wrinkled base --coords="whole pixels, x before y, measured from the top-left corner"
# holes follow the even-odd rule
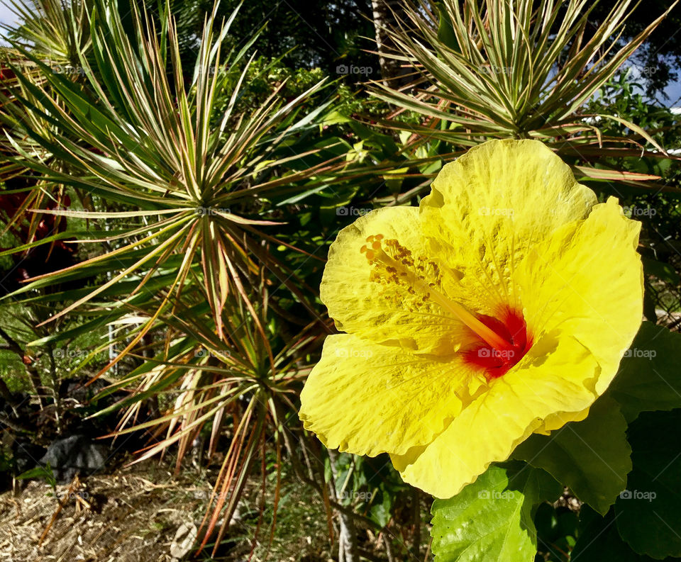
[[[528,249],[597,203],[570,167],[536,140],[491,140],[445,165],[421,201],[431,252],[459,271],[448,292],[489,314],[519,306],[509,279]],[[455,294],[456,293],[456,294]]]

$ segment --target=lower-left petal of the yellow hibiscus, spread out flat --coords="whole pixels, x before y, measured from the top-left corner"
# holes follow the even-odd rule
[[[400,347],[332,335],[301,393],[300,418],[330,449],[402,453],[431,442],[461,410],[467,376],[453,357],[440,361]]]

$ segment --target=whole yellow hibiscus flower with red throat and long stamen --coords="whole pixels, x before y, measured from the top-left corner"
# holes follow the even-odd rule
[[[321,299],[347,333],[310,373],[304,427],[457,494],[606,390],[641,325],[639,230],[541,142],[473,148],[419,208],[372,211],[331,245]]]

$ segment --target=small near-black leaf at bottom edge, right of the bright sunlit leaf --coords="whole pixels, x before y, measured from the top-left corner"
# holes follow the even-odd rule
[[[653,562],[637,554],[617,532],[613,512],[601,517],[588,506],[580,510],[580,538],[570,553],[574,562]],[[671,562],[671,558],[669,561]]]

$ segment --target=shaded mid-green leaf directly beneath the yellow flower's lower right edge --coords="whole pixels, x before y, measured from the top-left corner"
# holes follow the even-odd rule
[[[586,420],[567,423],[550,435],[534,434],[513,456],[543,468],[582,502],[605,514],[626,488],[630,454],[626,420],[614,400],[602,397]]]

